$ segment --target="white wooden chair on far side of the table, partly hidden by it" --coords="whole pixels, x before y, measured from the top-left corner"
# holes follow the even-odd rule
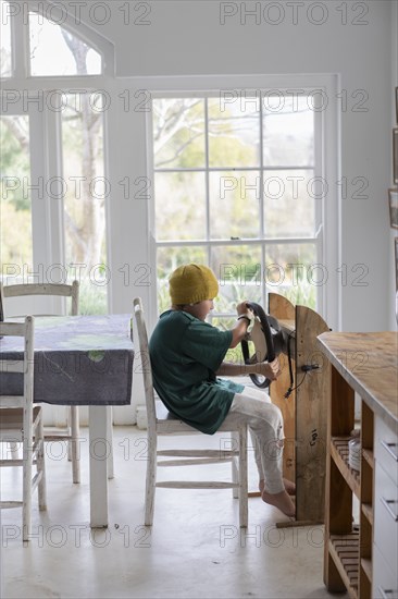
[[[5,297],[21,296],[58,296],[71,297],[71,316],[78,314],[78,281],[73,281],[71,285],[64,283],[25,283],[14,285],[2,285],[0,283],[0,309],[4,315]],[[38,315],[36,315],[38,316]],[[75,405],[69,406],[66,417],[66,429],[49,429],[45,428],[45,441],[66,441],[69,443],[67,455],[72,462],[72,479],[73,482],[80,482],[80,461],[78,455],[78,439],[79,439],[79,417],[78,407]]]

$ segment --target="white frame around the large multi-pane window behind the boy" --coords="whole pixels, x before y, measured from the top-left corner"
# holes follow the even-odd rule
[[[148,85],[149,84],[149,85]],[[328,190],[326,197],[322,198],[321,210],[323,212],[324,227],[318,229],[316,234],[320,243],[319,256],[325,269],[327,280],[322,284],[320,292],[319,311],[325,321],[333,329],[340,328],[341,298],[340,285],[338,284],[338,269],[340,262],[340,152],[339,152],[339,119],[337,111],[337,93],[339,81],[336,75],[231,75],[220,77],[167,77],[167,78],[147,78],[147,85],[151,96],[157,97],[202,97],[203,95],[219,95],[220,90],[250,90],[260,89],[286,89],[286,90],[322,90],[323,98],[327,101],[324,110],[316,112],[319,123],[315,127],[315,134],[322,135],[315,139],[315,148],[319,156],[315,163],[321,164],[322,176],[327,182]],[[151,114],[147,114],[147,148],[149,148],[148,176],[153,179],[153,164],[151,151]],[[322,133],[321,133],[322,132]],[[327,144],[326,144],[327,140]],[[327,152],[325,148],[327,147]],[[319,204],[319,200],[316,200]],[[315,217],[320,219],[318,215]],[[156,248],[158,243],[154,240],[154,200],[148,208],[149,222],[149,264],[156,268]],[[296,241],[296,240],[294,240]],[[291,240],[286,240],[293,243]],[[203,245],[214,242],[204,242]],[[245,244],[247,240],[245,240]],[[256,240],[251,243],[263,243],[263,240]],[[159,242],[159,245],[166,245]],[[177,245],[177,244],[175,244]],[[181,242],[181,245],[189,243]],[[336,292],[337,290],[337,292]],[[275,289],[277,292],[277,288]],[[157,314],[156,285],[152,285],[148,302],[150,305],[150,322],[153,327]]]

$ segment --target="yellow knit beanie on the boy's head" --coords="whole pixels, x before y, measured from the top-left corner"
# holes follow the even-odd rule
[[[169,279],[169,292],[174,305],[196,304],[213,300],[219,293],[219,282],[213,271],[202,265],[184,265]]]

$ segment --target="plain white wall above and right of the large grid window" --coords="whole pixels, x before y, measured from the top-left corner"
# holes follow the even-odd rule
[[[394,57],[397,34],[393,21],[397,19],[396,0],[129,2],[128,24],[123,22],[127,3],[112,0],[108,2],[110,19],[103,25],[99,24],[102,20],[99,4],[103,2],[97,2],[91,15],[88,8],[82,8],[82,19],[115,45],[120,77],[256,73],[336,73],[340,76],[348,100],[340,113],[341,175],[349,183],[341,212],[341,264],[348,269],[347,285],[343,288],[341,326],[352,331],[394,327],[387,190],[391,186],[393,89],[397,85],[397,81],[391,81],[391,73],[397,73]],[[246,11],[260,9],[260,12],[249,16],[245,8]],[[346,15],[341,12],[344,9]],[[225,16],[222,24],[221,15],[225,11],[236,11],[236,14]],[[269,23],[278,19],[279,24]],[[324,23],[314,24],[321,21]],[[368,99],[359,105],[363,98]],[[366,111],[357,111],[356,107]],[[141,151],[139,161],[145,164],[145,148]],[[352,197],[360,191],[362,181],[350,184],[356,178],[369,181],[364,192],[368,198]],[[125,210],[117,223],[116,252],[121,264],[123,259],[128,261],[132,252],[128,242],[122,242],[124,249],[120,246],[125,239],[123,227],[127,232],[130,208]],[[142,224],[145,222],[130,223],[133,228]],[[362,280],[365,286],[355,284],[361,273],[361,270],[351,271],[356,265],[369,269]]]

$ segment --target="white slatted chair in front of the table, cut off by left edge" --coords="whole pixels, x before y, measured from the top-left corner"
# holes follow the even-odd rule
[[[2,359],[1,372],[23,374],[23,395],[4,395],[0,391],[0,441],[21,443],[23,460],[0,460],[0,466],[22,466],[22,501],[1,501],[1,508],[22,506],[23,540],[32,534],[32,496],[38,489],[39,510],[46,510],[46,468],[43,451],[42,409],[33,405],[34,396],[34,318],[24,322],[0,322],[0,335],[23,337],[24,358]],[[1,386],[0,386],[1,387]],[[33,466],[36,466],[34,474]]]

